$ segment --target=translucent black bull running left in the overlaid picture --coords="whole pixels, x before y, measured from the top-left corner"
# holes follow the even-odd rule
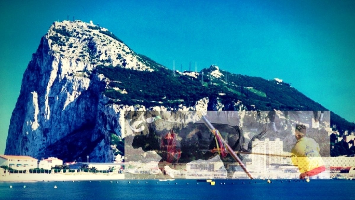
[[[159,166],[162,166],[163,163],[166,163],[168,160],[166,159],[166,149],[162,148],[161,144],[166,134],[171,132],[171,130],[158,131],[154,123],[147,123],[146,125],[148,126],[148,133],[136,133],[133,138],[132,147],[141,147],[143,151],[157,152],[157,154],[162,157],[159,161]],[[212,123],[212,125],[219,130],[222,137],[234,151],[250,152],[252,149],[252,141],[260,139],[266,133],[266,130],[263,130],[254,135],[247,144],[247,148],[245,148],[245,138],[239,126],[218,123]],[[174,128],[173,132],[178,136],[176,137],[176,149],[179,149],[181,152],[181,157],[175,159],[173,163],[189,163],[198,159],[207,160],[218,154],[217,152],[207,151],[217,148],[217,146],[212,132],[204,123],[188,123],[185,127]],[[237,155],[240,159],[243,159],[240,154]],[[221,159],[226,169],[227,163],[235,162],[229,154],[224,158],[221,157]]]

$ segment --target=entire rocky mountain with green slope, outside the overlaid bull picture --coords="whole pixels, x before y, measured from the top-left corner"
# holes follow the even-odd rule
[[[54,22],[23,75],[5,154],[119,161],[123,113],[146,109],[326,110],[281,81],[213,65],[174,74],[106,28],[78,20]],[[338,128],[350,127],[335,119]]]

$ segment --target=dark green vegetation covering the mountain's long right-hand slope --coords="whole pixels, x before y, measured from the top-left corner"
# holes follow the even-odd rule
[[[97,67],[97,73],[104,74],[111,80],[109,86],[112,88],[105,91],[105,95],[111,99],[109,103],[178,108],[180,104],[194,106],[196,101],[208,97],[209,110],[213,109],[212,104],[215,104],[217,99],[225,105],[224,110],[236,109],[234,104],[238,100],[242,101],[248,110],[327,110],[288,83],[228,73],[227,84],[221,79],[209,77],[209,72],[215,68],[207,68],[203,69],[202,86],[201,74],[197,79],[187,75],[173,76],[171,70],[154,60],[143,55],[138,56],[141,62],[148,63],[155,71],[137,71],[103,65]],[[125,89],[128,94],[121,94],[120,91],[113,89],[114,87]],[[347,122],[333,112],[331,125],[336,125],[340,133],[354,130],[353,123]]]

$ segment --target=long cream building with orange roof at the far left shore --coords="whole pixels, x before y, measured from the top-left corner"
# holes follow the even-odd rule
[[[11,167],[16,170],[28,170],[37,168],[37,159],[29,156],[0,155],[0,166]]]

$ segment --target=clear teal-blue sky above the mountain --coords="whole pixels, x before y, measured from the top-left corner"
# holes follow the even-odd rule
[[[170,69],[280,78],[355,121],[355,1],[0,1],[0,154],[32,53],[67,15]]]

